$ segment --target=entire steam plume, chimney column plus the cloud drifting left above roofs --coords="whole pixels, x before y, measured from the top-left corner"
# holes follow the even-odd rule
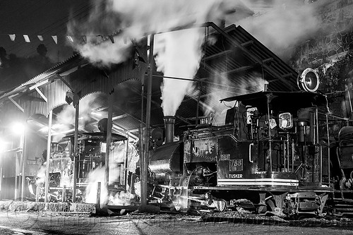
[[[131,41],[151,33],[185,28],[186,25],[207,21],[218,23],[225,16],[225,11],[238,3],[223,0],[94,1],[95,11],[88,19],[88,24],[70,23],[68,35],[112,34],[121,30],[114,35],[114,43],[106,40],[97,44],[97,37],[90,37],[86,44],[76,44],[76,49],[92,63],[109,66],[126,59]],[[202,56],[203,33],[202,28],[193,28],[158,35],[159,38],[155,40],[158,71],[162,71],[164,76],[193,79]],[[190,86],[191,83],[187,81],[164,78],[164,115],[175,114],[184,95],[191,91]]]

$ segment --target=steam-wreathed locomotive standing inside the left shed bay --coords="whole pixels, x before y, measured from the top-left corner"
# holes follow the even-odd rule
[[[104,169],[103,165],[105,162],[105,150],[106,150],[106,129],[102,129],[102,126],[107,126],[106,119],[99,121],[98,128],[101,132],[78,133],[78,157],[76,158],[76,163],[73,160],[73,144],[74,135],[67,135],[63,138],[64,141],[59,143],[51,143],[50,148],[50,158],[49,158],[49,191],[48,199],[49,201],[73,201],[73,181],[76,178],[76,198],[75,201],[78,202],[88,202],[88,198],[85,196],[89,193],[87,192],[90,188],[95,188],[97,185],[96,181],[101,179],[96,179],[94,182],[89,179],[89,174],[97,169]],[[116,133],[112,133],[112,146],[114,146],[114,151],[111,152],[112,159],[114,161],[111,163],[112,169],[117,171],[114,174],[115,178],[112,181],[113,191],[124,190],[124,176],[121,169],[124,166],[124,162],[116,162],[117,159],[121,160],[121,155],[119,155],[119,146],[122,146],[122,140],[126,140],[126,137]],[[47,164],[47,163],[46,163]],[[76,167],[76,177],[73,175],[74,167]],[[30,200],[44,200],[44,182],[45,182],[45,170],[47,166],[43,165],[40,169],[40,173],[37,179],[28,179],[28,188],[30,191]],[[104,176],[103,176],[104,177]],[[91,185],[89,184],[91,183]],[[94,185],[92,185],[94,183]],[[86,195],[85,195],[86,194]],[[96,196],[96,193],[95,195]],[[95,203],[95,200],[89,199],[90,203]]]

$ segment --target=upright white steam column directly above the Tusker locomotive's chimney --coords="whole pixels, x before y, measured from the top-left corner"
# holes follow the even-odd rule
[[[189,78],[195,76],[201,60],[200,45],[203,30],[193,28],[157,35],[155,54],[157,71],[166,77]],[[192,82],[164,78],[161,86],[164,116],[174,116],[185,95],[192,90]]]

